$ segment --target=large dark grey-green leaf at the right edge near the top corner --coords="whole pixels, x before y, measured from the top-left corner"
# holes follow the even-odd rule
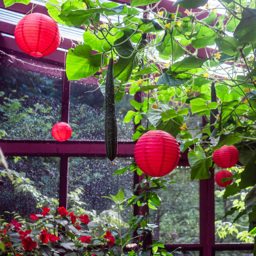
[[[234,31],[234,37],[240,42],[256,41],[256,9],[243,8],[242,18]]]

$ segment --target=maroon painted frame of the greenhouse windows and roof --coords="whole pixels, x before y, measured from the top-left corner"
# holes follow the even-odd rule
[[[112,0],[118,3],[129,4],[130,0]],[[172,2],[162,0],[158,6],[159,8],[166,8],[167,11],[173,13],[176,7],[172,7]],[[3,0],[0,0],[0,8],[4,8]],[[18,13],[26,14],[32,8],[32,3],[28,5],[13,4],[8,7],[8,10]],[[182,8],[181,11],[185,11]],[[47,14],[44,6],[34,6],[34,12]],[[157,11],[157,10],[156,10]],[[200,18],[206,17],[202,15]],[[9,35],[14,34],[15,25],[0,21],[0,33]],[[72,46],[70,39],[64,39],[61,42],[60,48],[69,49]],[[0,35],[0,49],[6,53],[18,54],[22,58],[26,58],[24,54],[15,43],[13,38]],[[207,49],[210,52],[210,49]],[[198,57],[206,57],[205,51],[198,51]],[[29,57],[30,59],[33,59]],[[38,58],[35,58],[38,61]],[[65,51],[56,50],[53,54],[40,58],[44,64],[57,65],[65,69]],[[140,95],[136,94],[135,99],[140,100]],[[70,100],[70,81],[68,81],[65,72],[63,71],[63,92],[61,102],[61,121],[68,122],[69,120],[69,100]],[[29,146],[28,146],[29,145]],[[118,142],[117,157],[133,157],[134,156],[134,142]],[[103,141],[46,141],[46,140],[0,140],[0,147],[5,156],[53,156],[60,157],[60,188],[59,188],[59,205],[67,207],[67,186],[68,186],[68,157],[106,157],[105,147]],[[181,155],[179,166],[189,166],[187,153]],[[140,177],[135,174],[135,184],[140,181]],[[214,170],[211,169],[211,178],[199,181],[199,227],[200,237],[199,243],[193,244],[166,244],[166,249],[172,250],[181,247],[181,250],[199,251],[200,256],[214,256],[215,251],[220,250],[252,250],[253,244],[248,243],[215,243],[215,228],[214,228]],[[134,209],[135,214],[139,213],[138,207]]]

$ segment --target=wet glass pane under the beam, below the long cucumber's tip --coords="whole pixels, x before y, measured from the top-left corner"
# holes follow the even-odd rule
[[[133,195],[133,173],[126,172],[121,175],[112,174],[115,170],[127,166],[133,159],[117,158],[114,166],[108,159],[70,157],[69,158],[69,181],[68,192],[81,189],[77,206],[73,207],[74,201],[68,204],[75,214],[88,214],[90,234],[99,237],[105,232],[106,227],[118,226],[117,208],[114,202],[103,196],[116,195],[120,189],[126,198]],[[85,204],[84,204],[85,203]],[[130,216],[133,214],[132,206],[121,211],[121,231],[125,234]]]

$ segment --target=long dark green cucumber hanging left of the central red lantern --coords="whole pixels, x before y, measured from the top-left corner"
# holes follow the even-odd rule
[[[113,62],[113,58],[110,58],[105,88],[105,147],[107,157],[112,166],[113,160],[117,155],[117,118],[115,116]]]

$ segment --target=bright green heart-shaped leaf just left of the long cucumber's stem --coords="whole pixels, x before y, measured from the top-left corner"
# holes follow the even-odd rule
[[[66,72],[68,80],[77,80],[94,75],[100,68],[102,54],[91,55],[92,48],[89,45],[78,45],[72,51],[68,50],[66,60]],[[104,57],[104,64],[107,60]],[[74,65],[75,63],[75,65]]]

